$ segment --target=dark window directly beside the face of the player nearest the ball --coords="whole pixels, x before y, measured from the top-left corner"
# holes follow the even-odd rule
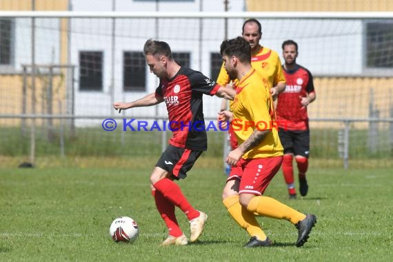
[[[123,53],[123,90],[145,91],[146,62],[143,52]]]

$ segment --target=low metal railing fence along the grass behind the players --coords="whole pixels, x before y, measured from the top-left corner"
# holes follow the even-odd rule
[[[0,155],[25,156],[34,163],[37,157],[138,156],[151,157],[165,150],[170,130],[162,117],[137,117],[143,126],[123,116],[0,115],[1,119],[26,119],[27,125],[0,128]],[[72,128],[71,123],[89,119],[94,124]],[[50,120],[50,121],[49,121]],[[110,124],[105,128],[105,122]],[[152,128],[152,121],[159,123]],[[206,119],[216,121],[216,119]],[[37,125],[39,123],[39,125]],[[50,125],[48,123],[51,123]],[[53,125],[53,123],[56,123]],[[331,123],[340,128],[320,128]],[[356,128],[367,123],[369,128]],[[208,126],[208,124],[206,125]],[[316,128],[313,128],[316,126]],[[111,127],[113,130],[108,131]],[[161,127],[161,128],[160,128]],[[391,167],[393,159],[393,119],[310,119],[310,158],[321,166],[344,168]],[[210,157],[225,156],[227,134],[219,128],[208,130]]]

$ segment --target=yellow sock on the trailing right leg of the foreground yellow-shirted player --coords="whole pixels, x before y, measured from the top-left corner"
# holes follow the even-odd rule
[[[250,203],[248,203],[247,210],[249,212],[272,217],[274,219],[286,219],[292,224],[296,224],[305,219],[305,214],[268,196],[254,196]]]

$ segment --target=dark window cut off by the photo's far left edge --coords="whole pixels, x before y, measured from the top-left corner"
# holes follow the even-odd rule
[[[0,66],[12,63],[12,20],[0,19]]]

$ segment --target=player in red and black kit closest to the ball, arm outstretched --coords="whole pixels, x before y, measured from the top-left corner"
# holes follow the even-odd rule
[[[188,239],[175,216],[175,206],[190,221],[191,242],[201,235],[208,216],[192,207],[174,180],[184,179],[186,172],[208,147],[202,95],[233,99],[236,92],[232,88],[221,87],[201,72],[179,66],[172,58],[168,43],[149,39],[143,53],[150,72],[160,79],[159,86],[155,92],[137,101],[114,103],[114,109],[120,112],[165,101],[173,135],[150,175],[151,190],[157,210],[169,231],[168,238],[161,245],[187,245]]]

